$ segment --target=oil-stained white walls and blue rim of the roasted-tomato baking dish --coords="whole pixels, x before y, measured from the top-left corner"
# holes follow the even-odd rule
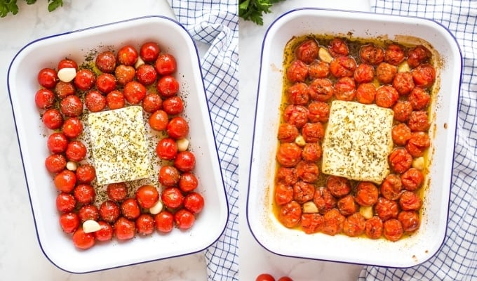
[[[440,91],[431,119],[430,185],[424,194],[422,225],[398,242],[365,237],[307,235],[285,228],[272,212],[276,166],[276,134],[283,79],[283,50],[294,36],[328,34],[354,38],[424,40],[441,55]],[[436,254],[445,237],[456,135],[461,54],[455,38],[443,26],[423,18],[302,8],[276,19],[262,45],[260,81],[250,159],[247,218],[253,236],[264,248],[283,256],[377,266],[409,267]]]

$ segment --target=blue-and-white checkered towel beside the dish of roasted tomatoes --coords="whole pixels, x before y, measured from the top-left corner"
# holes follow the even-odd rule
[[[477,280],[477,1],[371,0],[371,6],[376,13],[441,22],[457,38],[464,65],[445,242],[434,257],[419,266],[367,266],[359,280]]]

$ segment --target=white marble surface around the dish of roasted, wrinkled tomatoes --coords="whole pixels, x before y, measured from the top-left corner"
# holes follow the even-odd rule
[[[317,1],[293,0],[284,1],[272,7],[273,13],[264,16],[264,25],[259,27],[251,22],[240,22],[240,37],[238,40],[240,71],[240,206],[239,223],[239,280],[255,280],[260,273],[270,273],[276,279],[288,275],[293,280],[356,280],[362,266],[347,263],[332,263],[327,261],[312,261],[276,256],[258,244],[250,234],[246,221],[246,196],[248,188],[248,169],[250,168],[250,150],[252,145],[253,118],[255,116],[255,100],[257,94],[257,79],[260,66],[260,51],[262,40],[267,27],[277,15],[293,8],[318,7],[336,8],[351,11],[369,11],[369,0],[347,1]]]

